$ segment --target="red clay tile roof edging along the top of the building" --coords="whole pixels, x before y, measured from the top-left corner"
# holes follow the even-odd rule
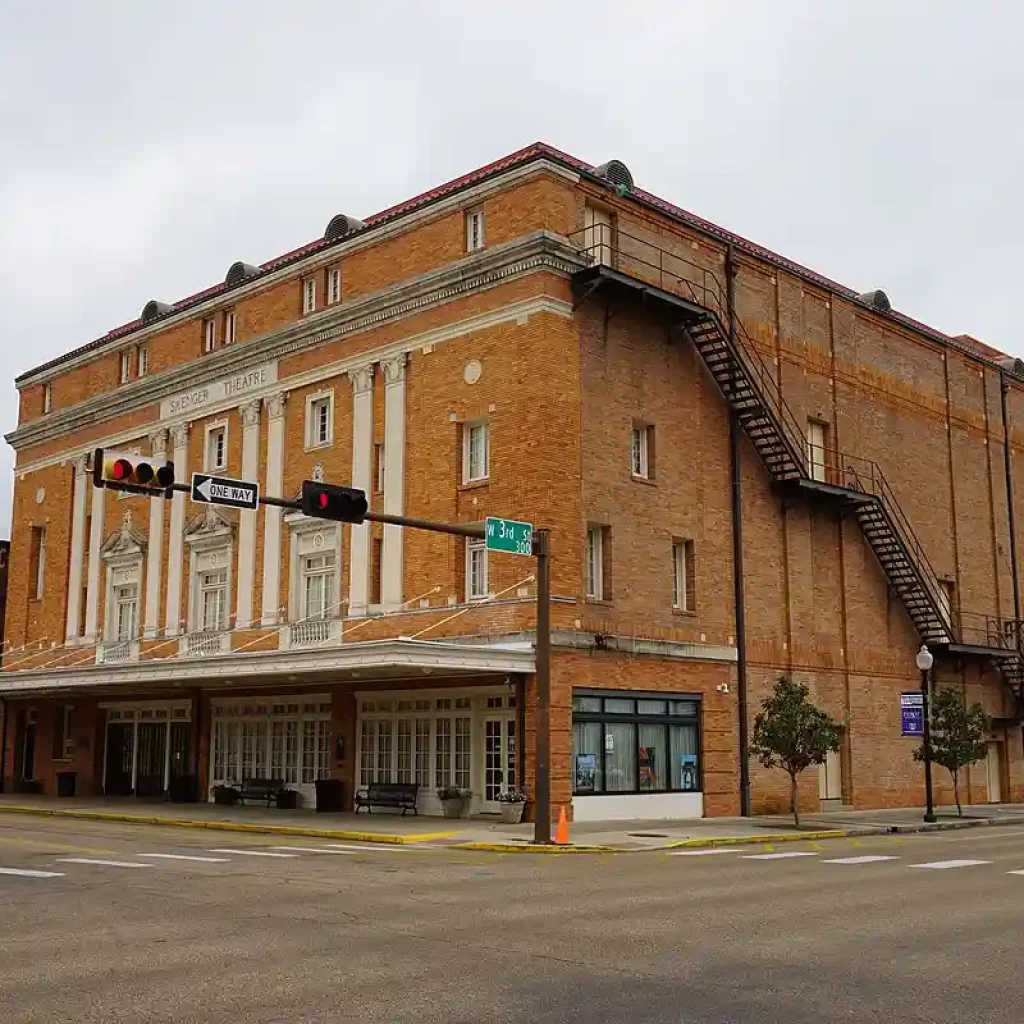
[[[517,167],[521,164],[526,164],[531,160],[538,159],[548,159],[554,161],[555,163],[562,164],[565,167],[583,174],[589,174],[593,171],[592,165],[586,164],[582,160],[569,156],[567,153],[562,153],[560,150],[556,150],[554,146],[548,145],[546,142],[534,142],[531,145],[517,150],[515,153],[511,153],[507,157],[502,157],[500,160],[496,160],[490,164],[477,168],[475,171],[470,171],[468,174],[463,174],[461,177],[455,178],[454,180],[442,185],[438,185],[436,188],[431,188],[419,196],[414,196],[412,199],[404,200],[395,206],[388,207],[388,209],[382,210],[380,213],[375,213],[366,218],[366,224],[368,227],[375,227],[391,220],[392,218],[399,217],[404,213],[410,213],[413,210],[436,202],[445,196],[457,193],[461,188],[475,184],[490,175],[498,174],[502,171],[509,170],[510,168]],[[778,253],[772,252],[770,249],[765,249],[763,246],[750,242],[739,234],[734,234],[732,231],[726,230],[724,227],[719,227],[717,224],[713,224],[711,221],[705,220],[702,217],[698,217],[696,214],[690,213],[688,210],[684,210],[664,199],[659,199],[657,196],[644,191],[642,188],[634,188],[630,195],[634,199],[639,200],[641,203],[644,203],[655,210],[662,211],[675,220],[679,220],[682,223],[687,224],[705,234],[718,239],[721,242],[733,245],[737,249],[750,253],[753,256],[757,256],[768,263],[772,263],[775,266],[788,270],[797,276],[816,284],[827,291],[835,292],[836,294],[842,295],[846,298],[856,298],[858,294],[853,289],[831,281],[830,279],[811,270],[809,267],[786,259],[784,256],[780,256]],[[304,256],[308,256],[317,250],[326,249],[334,244],[335,243],[333,242],[325,242],[324,239],[316,239],[315,241],[307,243],[304,246],[300,246],[298,249],[293,249],[291,252],[285,253],[282,256],[276,256],[273,259],[268,260],[266,263],[261,263],[259,269],[262,272],[276,270],[288,263],[301,259]],[[252,280],[252,278],[249,279],[249,281]],[[189,295],[187,298],[178,299],[176,302],[171,304],[171,309],[166,315],[173,315],[188,306],[196,305],[199,302],[212,298],[213,296],[219,295],[228,290],[227,286],[223,283],[213,285],[210,288],[204,289],[202,292]],[[956,339],[952,339],[949,336],[942,334],[940,331],[936,331],[934,328],[930,328],[928,325],[922,324],[910,316],[904,315],[903,313],[893,311],[888,315],[913,329],[914,331],[934,338],[936,341],[943,344],[953,345],[956,347],[956,342],[958,341],[959,347],[967,348],[971,352],[981,355],[984,358],[995,359],[996,361],[1009,358],[1009,356],[1005,353],[991,348],[983,342],[977,341],[977,339],[971,338],[969,335],[959,335]],[[153,323],[154,322],[151,321],[146,326]],[[57,367],[61,362],[74,358],[77,355],[88,352],[90,349],[98,348],[110,341],[130,335],[133,331],[142,326],[142,321],[140,318],[136,318],[128,324],[123,324],[121,327],[114,328],[114,330],[109,331],[102,337],[96,338],[94,341],[90,341],[85,345],[72,349],[70,352],[66,352],[63,355],[59,355],[48,362],[44,362],[33,370],[27,371],[19,377],[16,377],[14,379],[14,383],[19,384],[29,377],[33,377],[38,373]]]

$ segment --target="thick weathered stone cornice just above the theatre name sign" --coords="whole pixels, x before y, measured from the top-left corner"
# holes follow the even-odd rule
[[[86,424],[152,406],[155,400],[222,376],[242,372],[316,345],[390,323],[471,292],[505,284],[526,273],[547,270],[570,274],[589,265],[588,257],[562,236],[537,231],[474,253],[454,263],[410,279],[362,299],[330,306],[321,313],[279,331],[230,345],[202,359],[126,384],[47,417],[32,420],[6,434],[15,450],[72,433]],[[291,385],[291,382],[289,384]],[[204,410],[204,415],[206,415]],[[211,411],[212,412],[212,411]]]

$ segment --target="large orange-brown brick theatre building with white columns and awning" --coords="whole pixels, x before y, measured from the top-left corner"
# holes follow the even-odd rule
[[[992,717],[970,799],[1024,799],[1019,361],[544,144],[140,307],[16,381],[6,793],[532,793],[531,559],[118,495],[104,446],[549,527],[578,820],[739,813],[740,726],[783,673],[844,723],[804,806],[922,803],[922,643]],[[784,779],[752,765],[749,795],[784,809]]]

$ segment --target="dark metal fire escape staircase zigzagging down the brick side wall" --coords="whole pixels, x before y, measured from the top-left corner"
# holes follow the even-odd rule
[[[738,318],[728,327],[725,291],[715,275],[648,242],[616,233],[613,248],[582,232],[594,262],[574,275],[578,304],[597,289],[668,308],[715,379],[772,481],[811,500],[849,511],[902,601],[921,639],[949,653],[979,656],[998,667],[1024,702],[1024,657],[993,616],[953,615],[946,592],[878,465],[843,453],[809,451],[804,431],[779,385]],[[588,237],[589,234],[589,237]],[[579,241],[579,240],[578,240]],[[589,243],[589,245],[588,245]]]

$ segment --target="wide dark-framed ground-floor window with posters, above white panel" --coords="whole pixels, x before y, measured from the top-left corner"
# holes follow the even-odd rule
[[[699,711],[694,698],[574,694],[573,793],[699,792]]]

